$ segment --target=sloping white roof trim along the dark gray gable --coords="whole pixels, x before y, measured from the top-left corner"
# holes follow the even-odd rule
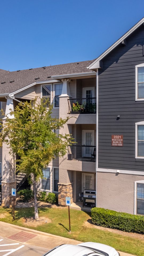
[[[140,25],[144,23],[144,18],[142,18],[137,24],[135,24],[129,31],[127,31],[121,38],[119,38],[113,45],[111,45],[104,53],[102,53],[93,63],[91,63],[88,68],[89,69],[98,69],[100,68],[100,61],[107,54],[109,54],[119,43],[121,43],[124,39],[126,39],[132,32],[134,32]]]

